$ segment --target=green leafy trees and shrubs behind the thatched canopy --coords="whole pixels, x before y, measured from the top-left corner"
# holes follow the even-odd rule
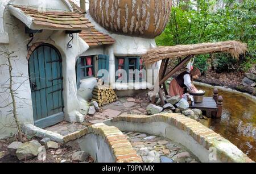
[[[248,44],[249,50],[241,56],[240,66],[236,69],[247,71],[256,62],[255,22],[255,0],[243,0],[242,2],[235,0],[182,1],[179,5],[172,7],[170,22],[163,34],[156,38],[156,43],[177,45],[240,40]],[[203,61],[206,62],[206,57],[199,56],[200,60],[197,60],[197,65],[203,71],[206,69],[202,67]],[[224,68],[225,61],[230,60],[235,65],[237,64],[226,54],[216,57],[218,58],[216,68]],[[220,72],[222,71],[221,69]]]

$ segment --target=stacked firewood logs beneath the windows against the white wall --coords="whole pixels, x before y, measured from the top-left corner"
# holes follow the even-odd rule
[[[100,107],[117,101],[114,90],[106,86],[94,86],[92,94],[92,100],[96,101]]]

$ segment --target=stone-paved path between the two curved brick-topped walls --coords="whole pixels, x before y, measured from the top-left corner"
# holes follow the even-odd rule
[[[123,132],[145,163],[198,163],[199,159],[184,146],[162,136]]]

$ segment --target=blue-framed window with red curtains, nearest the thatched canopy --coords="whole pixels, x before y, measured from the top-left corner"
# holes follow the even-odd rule
[[[122,81],[122,82],[135,82],[137,79],[139,81],[144,81],[145,74],[143,72],[144,65],[141,57],[116,57],[116,68],[115,71],[116,74],[116,81]],[[127,77],[125,78],[120,70],[123,69],[126,72]],[[138,70],[135,73],[135,70]],[[138,76],[138,77],[136,77]]]

